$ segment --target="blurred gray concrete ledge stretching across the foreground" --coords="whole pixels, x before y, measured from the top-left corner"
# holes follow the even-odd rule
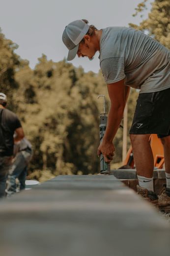
[[[1,255],[167,256],[170,226],[113,175],[58,176],[0,201]]]

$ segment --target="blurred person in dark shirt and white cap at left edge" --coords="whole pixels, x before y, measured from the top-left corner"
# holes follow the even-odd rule
[[[6,179],[13,158],[14,142],[24,138],[17,115],[6,109],[7,97],[0,93],[0,198],[5,196]],[[14,132],[16,133],[14,139]]]

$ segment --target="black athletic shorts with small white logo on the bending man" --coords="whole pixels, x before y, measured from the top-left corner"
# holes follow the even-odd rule
[[[129,133],[170,135],[170,88],[139,95]]]

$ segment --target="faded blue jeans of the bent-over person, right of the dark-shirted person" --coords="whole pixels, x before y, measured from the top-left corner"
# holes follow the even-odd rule
[[[28,163],[31,159],[31,151],[20,151],[14,158],[11,169],[9,170],[6,193],[15,193],[17,189],[16,178],[20,182],[20,190],[25,189],[25,182],[28,170]]]

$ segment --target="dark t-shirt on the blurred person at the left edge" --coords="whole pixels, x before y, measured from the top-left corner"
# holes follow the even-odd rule
[[[0,108],[0,116],[0,156],[12,156],[14,131],[21,127],[21,123],[17,115],[8,109]]]

